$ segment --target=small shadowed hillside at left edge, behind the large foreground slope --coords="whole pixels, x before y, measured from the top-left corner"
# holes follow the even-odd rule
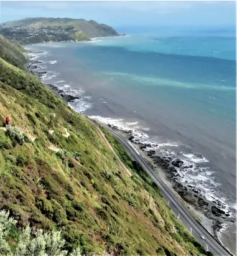
[[[7,62],[22,68],[26,59],[23,52],[26,50],[17,42],[9,42],[5,37],[0,35],[0,57]]]

